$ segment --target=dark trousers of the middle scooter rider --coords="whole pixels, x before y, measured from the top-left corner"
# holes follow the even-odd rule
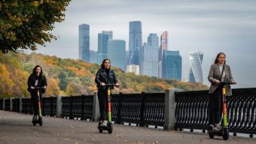
[[[108,120],[107,109],[108,109],[108,93],[107,90],[98,90],[98,99],[100,106],[100,120]]]

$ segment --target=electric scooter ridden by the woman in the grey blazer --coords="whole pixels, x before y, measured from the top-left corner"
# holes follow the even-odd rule
[[[228,128],[228,122],[227,122],[227,99],[226,99],[226,87],[225,84],[236,84],[236,83],[230,83],[230,82],[221,82],[222,86],[222,106],[223,106],[223,124],[221,124],[220,131],[214,130],[214,125],[209,125],[209,137],[214,138],[214,136],[222,136],[223,140],[228,140],[229,137],[229,128]]]

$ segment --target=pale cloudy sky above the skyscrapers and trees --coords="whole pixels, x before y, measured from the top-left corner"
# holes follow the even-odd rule
[[[113,39],[129,48],[129,21],[140,20],[142,39],[168,31],[168,50],[180,51],[182,81],[189,77],[189,52],[202,51],[204,84],[218,52],[225,52],[237,84],[256,87],[256,1],[82,1],[73,0],[65,20],[56,23],[52,40],[36,52],[60,58],[78,58],[78,26],[90,25],[90,50],[97,51],[97,34],[113,31]]]

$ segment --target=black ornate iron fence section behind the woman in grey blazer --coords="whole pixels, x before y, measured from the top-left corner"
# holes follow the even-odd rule
[[[230,132],[256,134],[256,88],[234,89],[232,93],[227,97]],[[207,129],[210,97],[208,91],[176,92],[176,128]]]

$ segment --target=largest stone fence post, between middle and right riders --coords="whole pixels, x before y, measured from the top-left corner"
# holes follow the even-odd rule
[[[180,89],[165,90],[165,104],[164,104],[164,130],[175,129],[175,92],[181,92]]]

